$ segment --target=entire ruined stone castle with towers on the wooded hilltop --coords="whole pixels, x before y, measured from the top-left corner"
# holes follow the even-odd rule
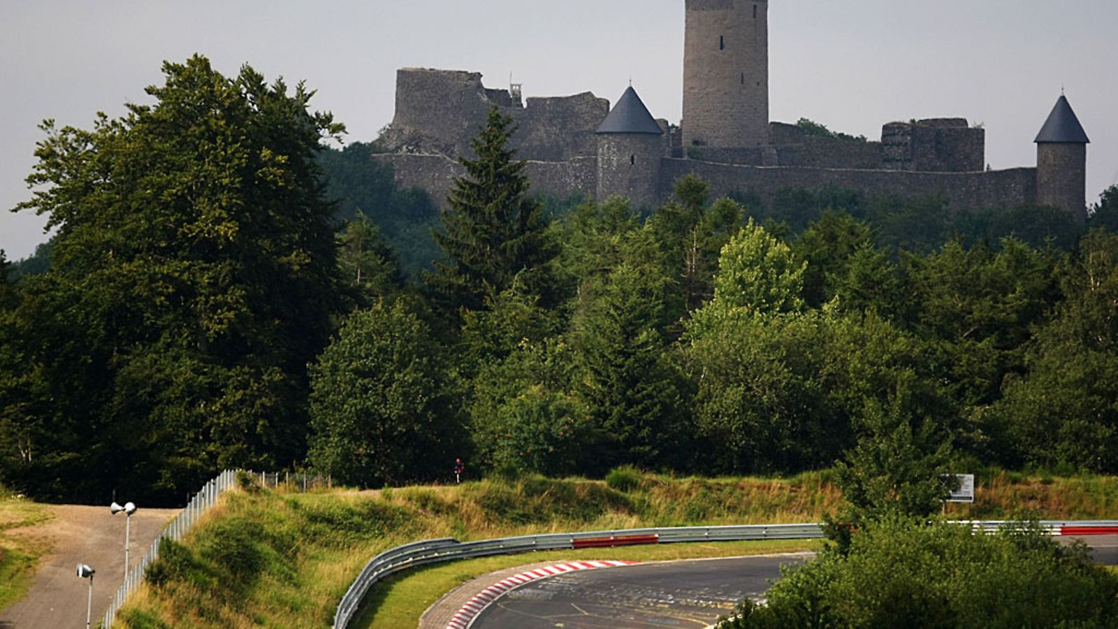
[[[1036,167],[987,170],[985,131],[964,119],[891,122],[880,141],[805,133],[770,122],[768,0],[685,0],[683,121],[656,120],[633,87],[616,105],[586,92],[528,98],[490,90],[477,73],[404,68],[396,116],[377,159],[399,187],[444,199],[464,173],[459,154],[496,105],[513,116],[512,144],[534,190],[581,191],[657,205],[694,173],[714,195],[840,187],[866,195],[939,195],[954,207],[1050,205],[1086,218],[1087,144],[1060,96],[1036,137]]]

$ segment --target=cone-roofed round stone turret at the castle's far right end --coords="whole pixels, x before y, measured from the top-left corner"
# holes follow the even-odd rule
[[[1036,203],[1087,219],[1087,144],[1090,140],[1071,103],[1055,102],[1036,135]]]

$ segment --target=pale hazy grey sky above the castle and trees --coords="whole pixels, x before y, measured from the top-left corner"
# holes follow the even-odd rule
[[[1032,143],[1060,95],[1079,114],[1088,200],[1118,182],[1118,1],[771,0],[774,120],[802,116],[879,139],[893,120],[966,116],[986,128],[994,168],[1035,165]],[[395,73],[421,66],[509,74],[529,98],[591,91],[615,101],[629,78],[657,118],[682,110],[683,0],[190,0],[0,2],[0,248],[29,255],[44,218],[28,198],[37,124],[92,126],[146,102],[164,59],[208,56],[306,79],[314,109],[350,140],[392,119]]]

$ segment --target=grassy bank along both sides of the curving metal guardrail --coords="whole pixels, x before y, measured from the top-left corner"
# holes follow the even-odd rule
[[[955,515],[994,518],[1033,509],[1049,518],[1118,518],[1112,478],[979,478],[978,500]],[[674,479],[614,476],[610,484],[538,477],[378,492],[230,495],[187,537],[169,545],[122,613],[127,627],[323,627],[361,566],[392,546],[432,537],[462,541],[578,529],[817,522],[841,496],[826,472],[792,479]],[[681,546],[682,547],[682,546]],[[634,551],[636,552],[636,551]],[[596,553],[598,554],[598,553]],[[609,558],[627,558],[610,551]],[[605,556],[605,554],[603,554]],[[500,558],[498,567],[538,561]],[[570,558],[565,554],[565,558]],[[504,563],[509,561],[511,563]],[[437,598],[487,564],[438,566],[372,593],[379,616],[397,612],[408,588]],[[494,567],[495,569],[495,567]],[[445,572],[440,572],[445,571]],[[396,592],[396,593],[394,593]]]

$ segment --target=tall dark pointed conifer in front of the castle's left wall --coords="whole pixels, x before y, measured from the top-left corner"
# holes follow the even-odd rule
[[[509,148],[514,132],[512,118],[492,107],[471,143],[476,159],[459,160],[466,175],[455,179],[435,234],[446,260],[426,276],[446,311],[485,308],[485,295],[503,292],[518,274],[530,292],[547,292],[544,265],[555,251],[543,208],[528,197],[525,162]]]

